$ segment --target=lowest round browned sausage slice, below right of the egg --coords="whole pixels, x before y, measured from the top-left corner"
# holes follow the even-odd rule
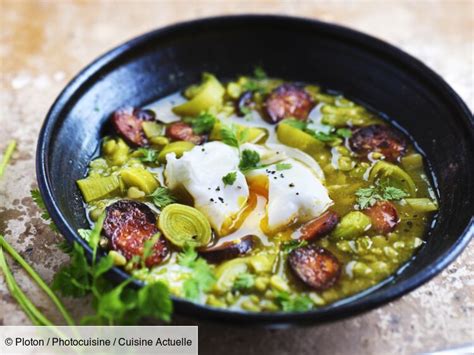
[[[339,260],[317,246],[296,248],[288,255],[288,262],[296,277],[317,291],[334,285],[341,274]]]

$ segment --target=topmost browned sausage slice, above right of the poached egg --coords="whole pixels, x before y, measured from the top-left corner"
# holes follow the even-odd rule
[[[268,95],[264,110],[270,123],[278,123],[287,117],[305,121],[314,105],[314,100],[303,88],[283,84]]]

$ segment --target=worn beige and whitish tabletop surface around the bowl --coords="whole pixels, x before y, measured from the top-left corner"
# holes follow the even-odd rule
[[[335,22],[401,47],[440,73],[474,107],[472,1],[5,1],[0,2],[0,151],[18,150],[0,181],[0,233],[47,281],[67,260],[30,198],[35,148],[48,108],[86,64],[151,29],[198,17],[278,13]],[[416,291],[362,316],[308,328],[200,325],[202,353],[414,353],[474,340],[474,245]],[[59,321],[44,295],[14,268],[20,285]],[[66,300],[74,315],[88,300]],[[193,320],[177,318],[180,324]],[[0,275],[0,324],[29,324]]]

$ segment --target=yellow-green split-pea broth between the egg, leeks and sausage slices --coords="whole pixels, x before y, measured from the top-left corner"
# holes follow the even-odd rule
[[[265,95],[282,82],[279,79],[238,78],[236,81],[227,83],[222,106],[218,110],[211,110],[211,113],[222,122],[263,128],[266,130],[266,143],[301,145],[301,142],[307,138],[306,136],[302,135],[302,138],[294,141],[288,140],[287,137],[285,140],[288,142],[281,142],[276,133],[277,125],[268,124],[259,113]],[[240,96],[243,88],[251,85],[258,86],[254,95],[256,106],[248,110],[249,112],[244,117],[237,117],[235,115],[235,100]],[[334,202],[330,209],[339,216],[344,216],[351,211],[358,210],[356,192],[361,188],[369,188],[374,185],[374,181],[369,181],[370,171],[382,157],[380,154],[372,154],[370,159],[361,158],[351,151],[347,137],[336,137],[336,129],[349,129],[352,126],[372,124],[387,125],[388,123],[374,112],[341,95],[324,93],[317,86],[307,86],[306,90],[318,103],[311,112],[308,127],[312,127],[313,130],[326,130],[327,127],[334,127],[330,132],[333,136],[331,136],[332,141],[329,143],[327,141],[311,141],[311,144],[301,145],[297,148],[302,148],[319,163],[325,175],[325,187]],[[193,93],[193,91],[189,92]],[[189,92],[187,91],[188,94]],[[150,105],[153,110],[159,113],[158,120],[160,115],[164,115],[166,116],[165,121],[168,122],[160,123],[159,127],[152,127],[155,131],[164,129],[164,126],[169,125],[170,121],[180,119],[171,112],[173,104],[170,101],[175,102],[177,98],[180,103],[186,102],[179,93],[176,93],[170,98],[164,98]],[[192,111],[194,108],[185,107],[185,110]],[[279,125],[282,124],[284,121]],[[296,133],[303,134],[302,131]],[[345,133],[347,134],[347,131]],[[163,146],[153,145],[152,148],[158,154]],[[183,151],[187,149],[185,148]],[[86,204],[91,222],[97,219],[106,206],[119,199],[134,199],[152,206],[152,199],[149,197],[150,191],[143,190],[154,189],[155,184],[153,182],[150,184],[143,176],[134,176],[133,173],[148,171],[156,179],[156,186],[158,183],[163,186],[165,183],[163,164],[153,158],[146,159],[143,154],[142,151],[128,146],[118,137],[104,139],[100,157],[90,163],[87,177],[98,179],[110,176],[120,177],[124,169],[129,169],[129,171],[132,169],[132,173],[127,175],[130,180],[127,180],[127,184],[124,184],[122,179],[117,186],[107,185],[106,187],[110,191],[99,189],[98,192],[95,190],[91,192],[99,196]],[[403,168],[414,181],[416,196],[410,197],[426,198],[436,204],[434,191],[427,178],[430,173],[426,169],[426,163],[423,162],[424,158],[410,142],[408,142],[404,156],[408,158],[402,160],[402,164],[396,162],[395,165]],[[115,182],[115,180],[113,181]],[[131,188],[132,185],[134,188]],[[192,205],[192,198],[186,193],[176,191],[175,194],[179,197],[179,203]],[[244,257],[210,265],[210,270],[217,280],[216,284],[200,294],[199,297],[194,298],[193,301],[215,307],[243,309],[251,312],[304,311],[322,307],[374,286],[393,275],[414,255],[417,248],[424,243],[423,236],[433,218],[433,211],[420,211],[419,209],[417,211],[405,199],[392,201],[392,203],[396,206],[400,221],[395,229],[386,235],[370,228],[361,235],[349,236],[347,239],[337,240],[333,234],[329,234],[311,242],[311,244],[332,252],[341,264],[338,281],[326,290],[308,288],[294,276],[288,266],[288,253],[283,250],[283,246],[292,240],[292,235],[294,236],[300,226],[294,224],[277,233],[266,235],[266,243],[259,244]],[[159,214],[159,208],[156,206],[153,207],[153,211],[157,215]],[[214,235],[212,243],[215,243],[217,239],[218,237]],[[128,271],[136,278],[147,282],[163,280],[169,285],[172,293],[184,297],[183,284],[193,277],[193,271],[177,262],[177,255],[181,249],[171,248],[170,257],[161,265],[152,269],[129,267]]]

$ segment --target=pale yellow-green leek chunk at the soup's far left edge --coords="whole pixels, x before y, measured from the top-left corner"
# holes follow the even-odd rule
[[[120,193],[120,178],[115,175],[77,180],[77,185],[87,203]]]

